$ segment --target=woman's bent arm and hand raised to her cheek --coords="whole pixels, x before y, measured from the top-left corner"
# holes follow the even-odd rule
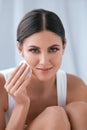
[[[30,106],[30,98],[26,89],[30,82],[29,71],[30,69],[26,64],[19,65],[5,86],[3,85],[7,93],[14,98],[16,105],[7,126],[5,126],[4,109],[3,107],[0,108],[0,124],[2,122],[0,130],[24,130]]]

